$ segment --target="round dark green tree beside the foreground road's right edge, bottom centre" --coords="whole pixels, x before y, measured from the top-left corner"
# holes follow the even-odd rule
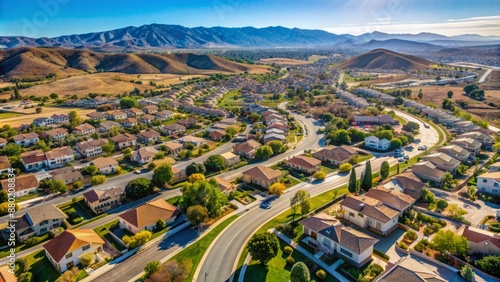
[[[247,249],[252,259],[266,265],[272,258],[278,255],[278,237],[272,233],[264,232],[254,234],[248,241]]]

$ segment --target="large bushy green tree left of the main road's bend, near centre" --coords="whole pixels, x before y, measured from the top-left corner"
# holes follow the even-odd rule
[[[215,179],[189,183],[181,189],[182,206],[200,205],[207,208],[210,217],[218,216],[223,206],[227,205],[227,196],[219,189]]]

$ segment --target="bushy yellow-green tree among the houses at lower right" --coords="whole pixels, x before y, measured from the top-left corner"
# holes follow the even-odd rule
[[[454,255],[465,255],[469,249],[469,241],[464,236],[456,235],[451,230],[439,230],[432,238],[434,249]]]

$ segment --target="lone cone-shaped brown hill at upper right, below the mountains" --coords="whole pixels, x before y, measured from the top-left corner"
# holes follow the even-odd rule
[[[435,63],[425,59],[396,53],[385,49],[375,49],[367,53],[347,59],[336,66],[340,69],[402,69],[425,70]]]

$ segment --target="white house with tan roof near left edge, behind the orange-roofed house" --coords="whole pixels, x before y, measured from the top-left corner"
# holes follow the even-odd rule
[[[16,221],[17,240],[22,243],[62,225],[66,215],[54,205],[43,205],[25,213]]]

